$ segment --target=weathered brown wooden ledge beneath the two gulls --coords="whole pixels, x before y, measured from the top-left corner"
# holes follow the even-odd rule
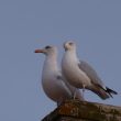
[[[42,121],[121,121],[121,107],[66,100]]]

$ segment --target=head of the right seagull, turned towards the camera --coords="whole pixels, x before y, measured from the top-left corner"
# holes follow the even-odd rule
[[[67,41],[64,43],[65,51],[75,51],[76,44],[73,41]]]

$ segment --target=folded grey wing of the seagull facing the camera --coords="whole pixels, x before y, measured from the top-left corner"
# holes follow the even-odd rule
[[[102,84],[100,77],[87,62],[79,61],[78,66],[82,72],[85,72],[87,74],[87,76],[91,79],[92,84],[103,87],[103,84]]]

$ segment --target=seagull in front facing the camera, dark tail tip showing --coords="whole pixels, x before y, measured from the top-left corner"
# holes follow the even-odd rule
[[[82,96],[85,89],[91,90],[98,95],[101,99],[107,99],[113,95],[118,95],[117,91],[105,86],[97,72],[84,61],[79,61],[76,52],[76,43],[68,41],[64,43],[65,54],[62,58],[62,72],[68,82],[82,89]]]

